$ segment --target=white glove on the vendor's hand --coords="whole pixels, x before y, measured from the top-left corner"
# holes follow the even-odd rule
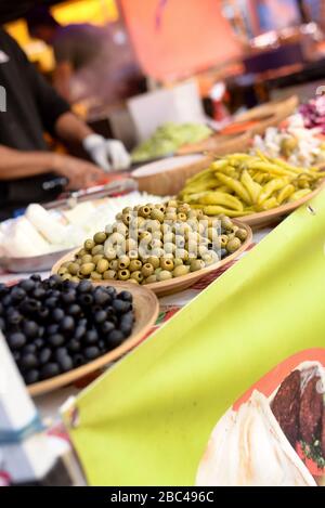
[[[131,157],[120,141],[90,134],[84,138],[82,145],[92,160],[105,171],[117,171],[130,167]]]

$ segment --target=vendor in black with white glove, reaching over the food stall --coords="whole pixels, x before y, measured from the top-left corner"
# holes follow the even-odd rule
[[[0,28],[0,86],[5,110],[0,112],[0,210],[9,214],[30,201],[48,200],[57,177],[69,188],[87,187],[104,171],[125,169],[130,157],[122,143],[95,134],[37,73],[25,53]],[[4,101],[5,100],[5,101]],[[51,153],[44,132],[79,143],[98,165]],[[101,168],[100,168],[101,167]],[[53,198],[53,196],[51,196]]]

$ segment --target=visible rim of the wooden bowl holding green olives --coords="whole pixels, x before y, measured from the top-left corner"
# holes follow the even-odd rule
[[[160,283],[154,283],[154,284],[147,284],[145,286],[135,286],[135,287],[146,287],[154,291],[158,297],[164,297],[167,295],[173,295],[174,292],[182,291],[186,289],[187,287],[193,286],[197,281],[203,278],[205,275],[207,275],[209,272],[213,272],[214,270],[218,270],[221,266],[224,266],[227,264],[230,261],[236,259],[242,252],[247,250],[249,245],[251,244],[252,240],[252,232],[250,226],[247,223],[239,222],[237,220],[233,220],[234,224],[245,229],[247,231],[247,238],[242,245],[242,247],[236,250],[236,252],[232,253],[231,256],[227,256],[225,259],[222,261],[219,261],[218,263],[211,264],[211,266],[207,266],[203,270],[198,270],[197,272],[188,273],[188,275],[183,275],[182,277],[176,277],[171,278],[170,281],[162,281]],[[78,252],[79,249],[73,250],[69,255],[64,256],[57,263],[54,264],[52,269],[52,274],[57,274],[57,271],[61,266],[62,263],[65,263],[66,261],[69,261],[74,258],[75,253]],[[101,281],[101,282],[94,282],[94,285],[100,285],[100,286],[114,286],[116,283],[115,281]],[[128,284],[128,283],[125,283]],[[133,288],[133,284],[128,284],[128,288]]]

